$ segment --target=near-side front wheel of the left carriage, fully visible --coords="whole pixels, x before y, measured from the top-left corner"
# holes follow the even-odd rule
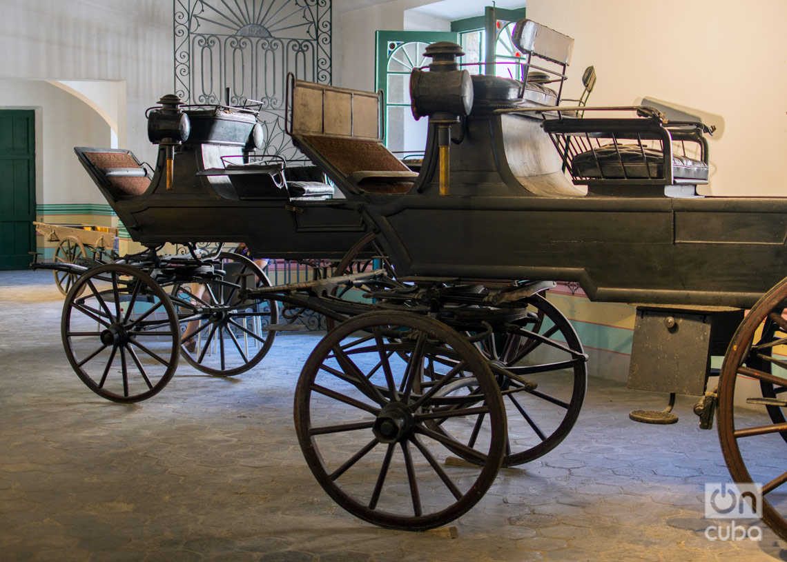
[[[82,274],[65,297],[61,332],[77,376],[113,402],[156,395],[178,366],[175,308],[135,267],[109,263]]]

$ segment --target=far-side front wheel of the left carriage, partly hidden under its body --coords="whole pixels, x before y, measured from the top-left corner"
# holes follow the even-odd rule
[[[245,255],[221,252],[217,259],[224,277],[208,283],[179,283],[172,287],[183,340],[180,353],[202,373],[230,377],[246,373],[271,349],[279,322],[275,300],[238,299],[238,289],[270,287],[271,281]]]

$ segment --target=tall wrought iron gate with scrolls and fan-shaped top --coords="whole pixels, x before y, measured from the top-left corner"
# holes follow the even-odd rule
[[[286,75],[331,83],[331,0],[173,0],[175,90],[186,104],[260,103],[267,154],[284,133]]]

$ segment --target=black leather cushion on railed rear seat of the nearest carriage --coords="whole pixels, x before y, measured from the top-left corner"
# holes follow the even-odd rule
[[[659,149],[611,144],[575,156],[571,160],[571,174],[575,177],[598,179],[657,179],[664,177],[663,163],[663,152]],[[708,164],[686,156],[673,155],[672,176],[682,180],[696,180],[698,183],[708,182]]]

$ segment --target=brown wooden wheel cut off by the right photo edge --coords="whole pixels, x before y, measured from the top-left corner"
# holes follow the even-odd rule
[[[783,421],[787,401],[782,394],[787,362],[778,358],[785,354],[787,342],[785,298],[787,279],[759,299],[735,332],[719,376],[718,422],[730,475],[737,483],[762,485],[763,521],[787,540],[787,423]],[[763,336],[758,336],[763,321]],[[745,459],[750,460],[748,465]]]

